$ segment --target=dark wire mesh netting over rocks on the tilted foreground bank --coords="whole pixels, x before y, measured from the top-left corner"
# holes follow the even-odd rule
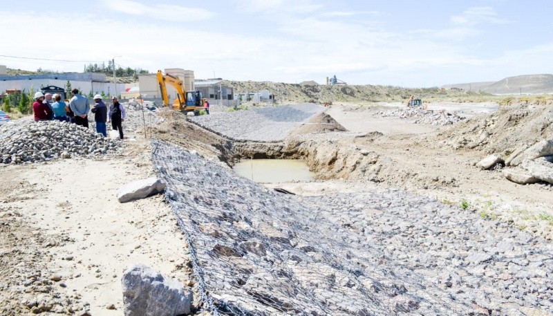
[[[469,313],[328,211],[159,140],[153,162],[214,315]]]

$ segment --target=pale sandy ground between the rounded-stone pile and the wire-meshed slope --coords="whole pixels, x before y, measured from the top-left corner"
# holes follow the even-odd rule
[[[104,160],[75,158],[0,169],[3,222],[10,219],[6,214],[19,212],[23,236],[55,236],[42,277],[59,275],[57,291],[82,303],[73,304],[73,310],[88,309],[91,315],[123,315],[121,277],[133,264],[151,266],[183,284],[190,280],[185,243],[163,196],[124,204],[116,198],[121,185],[153,174],[149,142],[133,142],[127,148],[124,156]],[[8,251],[6,245],[2,250]],[[28,268],[19,270],[20,279],[28,277]],[[9,304],[17,305],[10,301],[10,291],[0,294],[6,310]],[[111,304],[115,309],[106,309]],[[17,308],[6,310],[0,314],[19,315]]]

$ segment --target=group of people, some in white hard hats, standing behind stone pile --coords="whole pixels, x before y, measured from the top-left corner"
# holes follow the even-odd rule
[[[117,97],[111,98],[111,105],[108,109],[102,101],[102,96],[97,94],[94,96],[94,106],[91,109],[88,97],[81,95],[78,89],[73,89],[71,92],[73,97],[69,100],[69,104],[66,104],[62,100],[62,95],[57,93],[54,95],[50,93],[42,94],[41,92],[35,93],[35,102],[32,104],[35,121],[59,120],[88,128],[88,112],[92,112],[94,113],[97,133],[101,133],[106,137],[106,122],[111,121],[111,128],[118,130],[119,138],[123,139],[122,122],[126,118],[126,112]]]

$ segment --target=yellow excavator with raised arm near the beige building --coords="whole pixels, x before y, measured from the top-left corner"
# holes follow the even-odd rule
[[[166,84],[170,84],[177,91],[177,99],[171,104],[174,110],[186,113],[194,112],[197,115],[200,110],[204,109],[202,91],[186,91],[182,80],[172,75],[164,75],[161,71],[158,71],[158,82],[163,97],[163,105],[170,105],[166,86]]]

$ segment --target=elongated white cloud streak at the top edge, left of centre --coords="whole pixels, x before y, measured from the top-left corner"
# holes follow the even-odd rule
[[[202,8],[189,8],[169,4],[146,6],[131,0],[102,0],[102,2],[105,8],[115,12],[174,22],[202,21],[212,19],[215,16],[214,12]]]

